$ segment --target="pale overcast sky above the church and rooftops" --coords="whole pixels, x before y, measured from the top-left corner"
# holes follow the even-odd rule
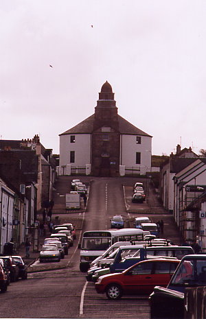
[[[58,154],[107,80],[152,154],[206,149],[206,1],[1,0],[0,30],[1,139]]]

